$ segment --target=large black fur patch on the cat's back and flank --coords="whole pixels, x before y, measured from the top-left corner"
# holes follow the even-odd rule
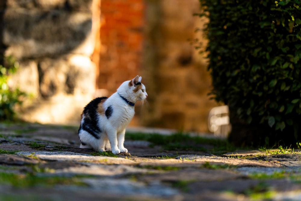
[[[78,133],[80,130],[85,130],[90,133],[96,139],[99,139],[99,133],[102,132],[101,128],[98,126],[98,103],[103,101],[103,99],[107,99],[107,97],[100,97],[92,100],[85,106],[83,115],[84,115],[84,123],[80,125]],[[82,145],[84,145],[82,143]]]

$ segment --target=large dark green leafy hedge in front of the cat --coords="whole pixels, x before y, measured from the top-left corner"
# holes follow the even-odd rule
[[[200,16],[209,18],[205,32],[213,79],[211,94],[229,105],[233,132],[237,131],[237,121],[233,120],[237,118],[245,126],[257,128],[250,135],[260,128],[260,143],[267,143],[266,137],[276,142],[300,141],[299,0],[200,3],[204,9]]]

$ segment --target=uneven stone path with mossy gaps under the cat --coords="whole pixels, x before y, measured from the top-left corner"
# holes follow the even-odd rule
[[[131,154],[110,157],[78,141],[74,127],[0,124],[0,200],[301,200],[298,150],[212,155],[126,140]]]

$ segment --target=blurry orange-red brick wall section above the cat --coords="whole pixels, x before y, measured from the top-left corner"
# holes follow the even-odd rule
[[[97,86],[108,95],[140,72],[143,24],[143,0],[101,0]]]

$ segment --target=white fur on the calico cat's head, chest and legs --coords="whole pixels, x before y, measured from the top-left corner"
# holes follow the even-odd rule
[[[120,96],[123,96],[128,101],[136,103],[138,100],[142,101],[146,99],[147,93],[145,86],[141,84],[141,90],[134,93],[134,83],[141,82],[142,77],[138,75],[133,80],[123,82],[117,92],[113,93],[103,103],[104,110],[107,110],[109,106],[112,106],[113,113],[108,119],[105,115],[98,114],[98,126],[103,131],[99,134],[100,138],[96,139],[85,130],[79,131],[79,138],[86,145],[80,145],[80,148],[94,149],[98,151],[112,151],[114,154],[126,153],[128,150],[123,146],[124,135],[126,132],[126,126],[132,120],[135,111],[134,107],[126,103]],[[129,86],[129,83],[132,86]],[[144,92],[142,92],[144,90]],[[81,123],[85,121],[84,115],[82,116]]]

